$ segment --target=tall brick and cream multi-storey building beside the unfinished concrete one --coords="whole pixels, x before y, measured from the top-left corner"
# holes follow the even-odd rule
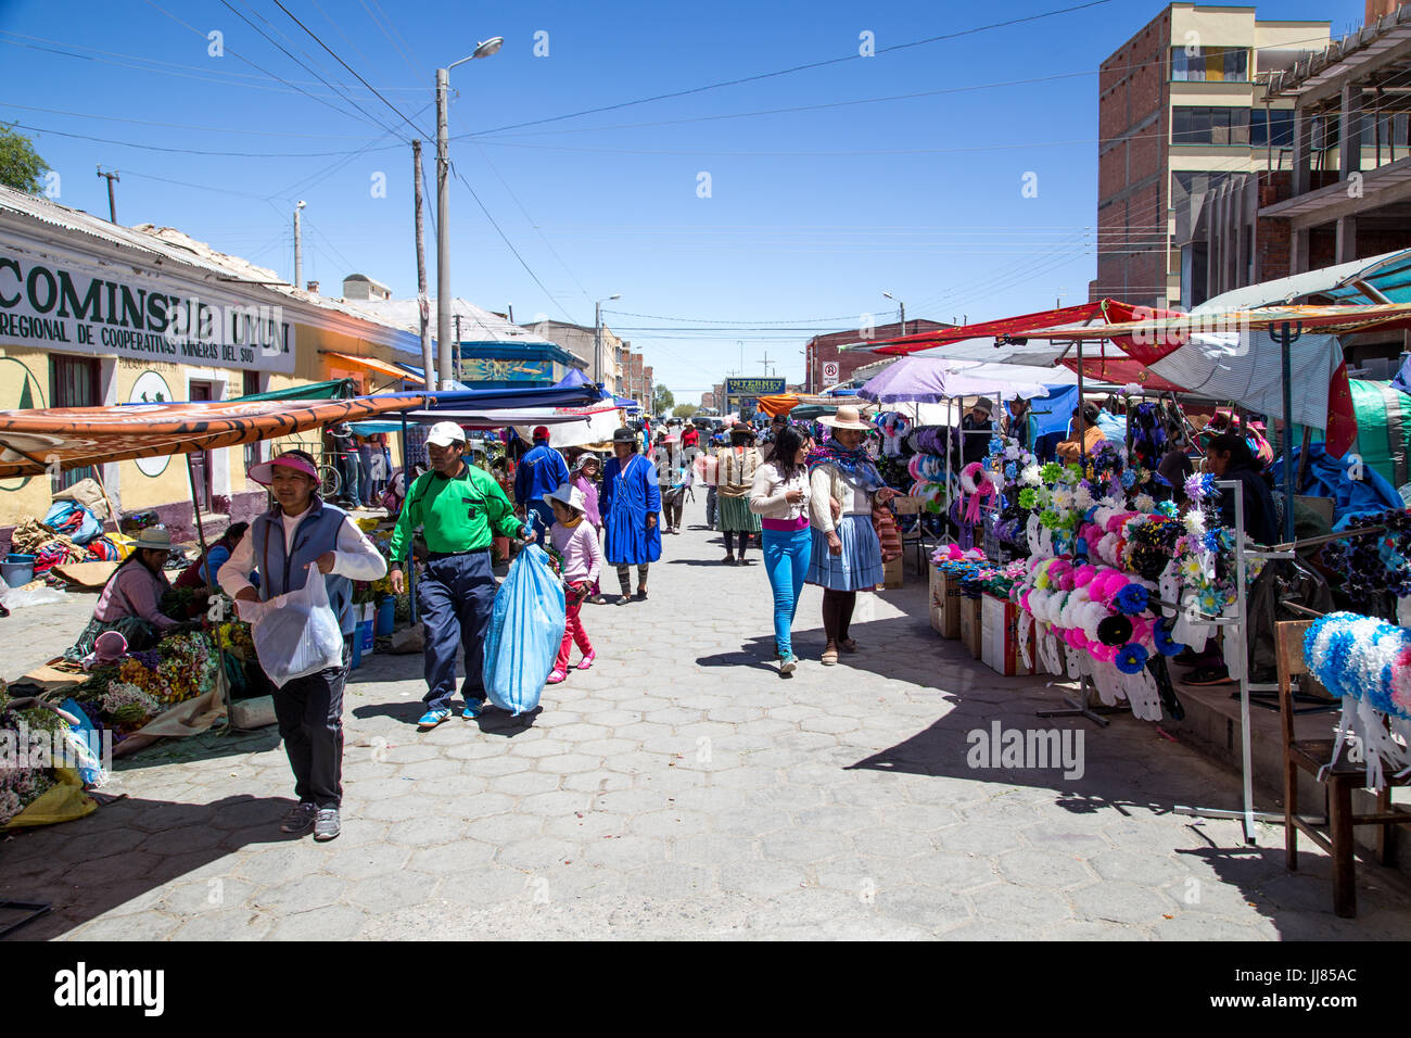
[[[1294,106],[1264,82],[1326,42],[1326,21],[1175,3],[1102,62],[1091,299],[1189,308],[1206,298],[1204,203],[1230,178],[1287,169]],[[1216,261],[1247,268],[1253,254],[1245,241]]]

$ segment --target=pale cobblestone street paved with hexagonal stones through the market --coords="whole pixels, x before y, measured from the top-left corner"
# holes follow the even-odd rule
[[[724,568],[689,504],[650,599],[588,606],[597,665],[532,719],[413,726],[420,658],[374,655],[346,698],[344,828],[288,839],[274,729],[120,760],[127,799],[0,837],[0,897],[49,901],[17,936],[244,938],[1400,938],[1411,909],[1359,869],[1332,914],[1312,847],[1245,847],[1237,780],[1127,716],[1040,720],[1044,679],[1000,678],[935,636],[926,587],[861,596],[862,652],[772,665],[755,565]],[[612,583],[604,583],[608,590]],[[11,652],[13,652],[11,647]],[[35,660],[34,662],[38,662]],[[14,671],[8,667],[7,671]],[[972,770],[967,733],[1072,727],[1084,774]],[[1307,845],[1305,845],[1307,846]]]

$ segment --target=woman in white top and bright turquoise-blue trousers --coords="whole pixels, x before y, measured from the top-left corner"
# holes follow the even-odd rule
[[[765,572],[775,592],[775,655],[779,676],[793,674],[793,619],[809,572],[813,535],[809,530],[807,436],[785,426],[775,438],[770,460],[755,470],[749,510],[761,517]]]

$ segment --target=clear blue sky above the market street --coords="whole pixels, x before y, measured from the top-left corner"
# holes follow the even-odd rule
[[[453,291],[512,304],[516,321],[581,323],[594,299],[621,294],[604,304],[607,323],[691,401],[741,363],[763,374],[766,353],[800,380],[814,332],[896,318],[883,291],[909,319],[938,321],[1084,299],[1095,72],[1161,10],[1108,0],[888,51],[1084,0],[282,0],[388,105],[275,0],[227,3],[0,0],[0,119],[42,129],[27,133],[61,174],[58,201],[106,213],[96,167],[116,168],[120,222],[179,227],[292,277],[303,199],[305,280],[337,292],[358,271],[415,295],[413,130],[394,109],[430,141],[436,66],[504,35],[499,54],[452,71],[452,160],[466,181],[452,185]],[[1325,18],[1336,35],[1363,4],[1257,10]],[[209,54],[212,31],[223,56]],[[859,56],[864,32],[875,56]],[[696,90],[816,62],[831,64]],[[694,92],[574,114],[683,90]],[[423,160],[435,189],[433,144]],[[1036,198],[1022,193],[1026,174]],[[435,287],[430,223],[428,253]]]

